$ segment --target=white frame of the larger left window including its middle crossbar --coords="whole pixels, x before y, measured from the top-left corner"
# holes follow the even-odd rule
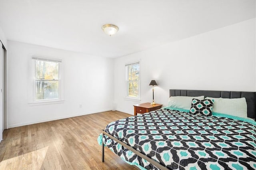
[[[36,99],[36,61],[50,61],[58,63],[58,98],[56,99]],[[52,102],[60,102],[64,101],[63,95],[63,78],[62,78],[62,60],[54,59],[54,58],[45,58],[45,57],[37,57],[32,56],[32,103],[39,104],[51,104]],[[52,80],[44,80],[44,81],[52,81]],[[56,81],[56,80],[54,80]]]

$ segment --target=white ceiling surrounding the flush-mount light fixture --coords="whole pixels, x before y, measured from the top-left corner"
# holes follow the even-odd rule
[[[121,57],[255,18],[255,0],[0,0],[8,40]],[[108,36],[104,24],[119,31]]]

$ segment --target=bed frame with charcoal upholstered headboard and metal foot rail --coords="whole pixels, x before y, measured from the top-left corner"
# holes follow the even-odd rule
[[[256,117],[256,92],[242,92],[242,91],[204,91],[204,90],[175,90],[170,89],[170,97],[171,96],[204,96],[204,97],[222,97],[222,98],[241,98],[245,97],[247,102],[247,115],[248,117],[255,120]],[[141,158],[147,160],[160,170],[168,170],[168,168],[159,164],[153,159],[148,158],[146,155],[140,153],[138,150],[132,148],[131,146],[127,145],[126,143],[118,140],[114,136],[111,136],[105,130],[102,130],[102,162],[104,162],[104,142],[103,142],[103,135],[110,137],[111,139],[115,140],[116,142],[120,143],[122,146],[126,147],[128,150],[134,152]]]

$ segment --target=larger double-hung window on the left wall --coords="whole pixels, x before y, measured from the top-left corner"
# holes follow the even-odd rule
[[[61,60],[32,57],[34,102],[62,99]]]

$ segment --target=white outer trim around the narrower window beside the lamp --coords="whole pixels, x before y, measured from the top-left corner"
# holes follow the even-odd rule
[[[126,67],[127,65],[130,65],[130,64],[134,64],[134,63],[139,63],[140,65],[140,68],[139,68],[139,81],[138,81],[138,97],[129,97],[128,96],[128,67]],[[124,99],[125,100],[128,100],[128,101],[140,101],[140,75],[141,75],[141,62],[140,60],[137,60],[137,61],[133,61],[133,62],[129,62],[129,63],[126,63],[125,64],[125,84],[126,84],[126,88],[125,88],[125,95],[124,95]]]

